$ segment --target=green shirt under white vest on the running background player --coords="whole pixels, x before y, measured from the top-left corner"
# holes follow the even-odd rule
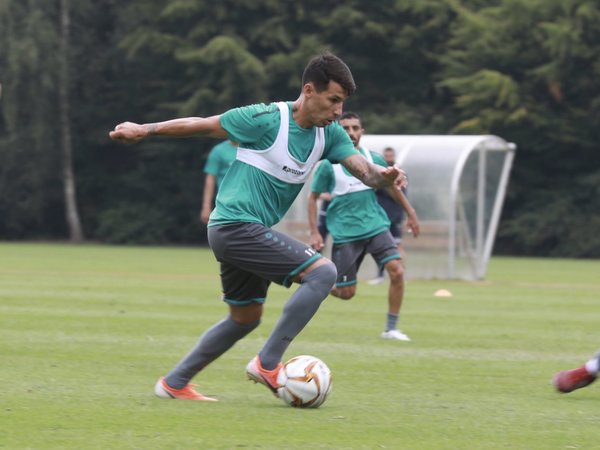
[[[370,150],[360,149],[364,155]],[[373,163],[387,167],[383,157],[371,152]],[[346,175],[350,172],[342,167]],[[311,184],[312,192],[333,192],[335,174],[329,161],[323,161],[317,167]],[[334,244],[367,239],[385,231],[390,226],[390,220],[384,209],[377,202],[374,189],[351,192],[338,195],[331,199],[327,208],[327,229],[333,236]]]

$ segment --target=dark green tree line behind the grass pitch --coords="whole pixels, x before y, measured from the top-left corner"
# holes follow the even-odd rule
[[[0,0],[0,239],[203,243],[215,142],[108,131],[293,100],[325,49],[369,133],[517,143],[496,253],[600,256],[594,0]]]

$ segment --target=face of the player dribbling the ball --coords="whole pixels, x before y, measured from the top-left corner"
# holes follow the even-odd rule
[[[342,114],[344,100],[348,94],[335,81],[330,81],[327,89],[317,92],[312,83],[305,86],[306,104],[314,126],[324,127],[335,122]]]

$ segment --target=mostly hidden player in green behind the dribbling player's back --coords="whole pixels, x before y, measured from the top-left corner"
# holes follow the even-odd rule
[[[213,209],[213,199],[218,191],[225,174],[235,161],[237,147],[233,142],[226,140],[215,145],[208,154],[204,165],[204,193],[202,195],[202,209],[200,210],[200,221],[208,223],[210,212]]]

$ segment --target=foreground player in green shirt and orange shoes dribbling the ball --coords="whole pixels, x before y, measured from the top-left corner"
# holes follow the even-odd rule
[[[286,349],[317,312],[336,279],[333,263],[307,244],[271,227],[292,205],[315,164],[340,162],[373,187],[396,182],[397,168],[369,163],[337,124],[346,98],[356,89],[348,66],[337,56],[315,56],[302,75],[295,101],[235,108],[211,117],[117,125],[110,137],[135,143],[153,135],[201,135],[239,143],[208,222],[208,242],[221,264],[223,300],[229,314],[214,324],[164,378],[159,397],[214,401],[190,380],[260,323],[271,283],[291,295],[266,343],[246,366],[247,376],[277,395],[277,374]]]

